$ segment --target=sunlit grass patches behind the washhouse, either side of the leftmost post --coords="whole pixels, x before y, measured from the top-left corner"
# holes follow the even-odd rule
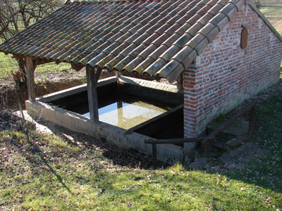
[[[52,70],[68,70],[71,68],[71,65],[68,63],[47,63],[44,65],[38,65],[35,72],[42,72],[44,74],[52,73]],[[18,63],[15,59],[11,57],[11,54],[5,55],[0,53],[0,78],[5,78],[11,75],[12,71],[18,70]]]

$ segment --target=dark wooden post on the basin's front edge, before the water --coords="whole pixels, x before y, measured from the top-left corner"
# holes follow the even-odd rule
[[[97,122],[99,121],[97,80],[94,68],[89,65],[86,66],[86,78],[90,120],[92,120],[93,122]]]

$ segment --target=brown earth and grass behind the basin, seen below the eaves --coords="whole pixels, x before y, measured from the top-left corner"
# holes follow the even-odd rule
[[[123,75],[153,80],[153,78],[146,76],[130,75],[126,73],[123,73]],[[100,79],[111,76],[114,76],[114,72],[103,71]],[[159,82],[169,84],[167,79],[161,79]],[[35,93],[37,97],[85,83],[85,68],[82,68],[82,70],[78,72],[75,70],[54,70],[51,73],[35,72]],[[25,108],[24,102],[27,100],[27,88],[17,89],[12,76],[0,79],[0,110],[18,110],[18,99],[23,108]]]

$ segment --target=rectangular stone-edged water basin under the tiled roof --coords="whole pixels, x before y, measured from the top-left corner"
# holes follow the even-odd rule
[[[99,122],[89,118],[87,85],[73,87],[26,101],[30,115],[61,124],[77,132],[105,139],[123,148],[152,153],[145,140],[168,137],[183,125],[183,92],[175,86],[130,77],[111,77],[97,84]],[[183,127],[182,127],[183,130]],[[183,131],[169,138],[183,137]],[[183,147],[157,146],[158,159],[173,164],[183,161]]]

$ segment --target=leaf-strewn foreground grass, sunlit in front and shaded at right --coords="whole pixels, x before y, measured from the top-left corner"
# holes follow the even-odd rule
[[[54,135],[0,132],[0,210],[282,209],[282,93],[257,106],[250,141],[269,153],[225,175],[141,170]],[[36,146],[36,147],[35,147]]]

